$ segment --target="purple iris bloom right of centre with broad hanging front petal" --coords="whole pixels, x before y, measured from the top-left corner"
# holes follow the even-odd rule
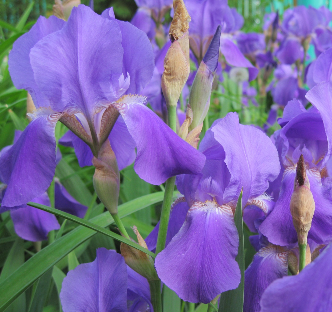
[[[243,207],[256,204],[264,210],[271,199],[263,193],[280,167],[270,138],[240,125],[236,113],[213,123],[200,150],[207,159],[202,172],[178,177],[186,203],[179,199],[173,207],[169,236],[190,209],[179,232],[157,255],[155,267],[162,282],[180,298],[208,303],[240,282],[233,213],[242,187]]]

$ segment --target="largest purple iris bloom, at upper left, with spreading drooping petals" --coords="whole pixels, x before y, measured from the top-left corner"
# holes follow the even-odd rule
[[[112,9],[99,16],[80,5],[67,23],[40,17],[9,55],[15,86],[29,91],[37,110],[18,141],[0,158],[1,177],[8,185],[1,211],[25,207],[50,185],[58,120],[72,131],[81,166],[91,165],[93,155],[98,156],[109,139],[119,169],[135,160],[136,148],[135,171],[152,184],[198,173],[204,155],[148,109],[144,97],[125,95],[139,93],[153,70],[146,34],[116,20]]]

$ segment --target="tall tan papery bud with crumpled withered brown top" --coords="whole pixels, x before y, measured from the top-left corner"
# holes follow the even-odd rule
[[[176,106],[182,89],[189,77],[189,38],[191,20],[183,0],[174,0],[174,17],[169,35],[172,41],[164,60],[164,73],[161,88],[167,106]]]

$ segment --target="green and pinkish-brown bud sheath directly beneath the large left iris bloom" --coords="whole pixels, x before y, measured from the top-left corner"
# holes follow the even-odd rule
[[[98,153],[98,158],[93,157],[92,163],[96,167],[93,176],[95,191],[111,215],[117,214],[120,173],[118,162],[109,140],[103,143]]]

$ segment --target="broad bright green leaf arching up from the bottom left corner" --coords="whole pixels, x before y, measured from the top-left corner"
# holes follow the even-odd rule
[[[125,217],[135,211],[161,202],[163,197],[164,192],[156,192],[128,201],[119,206],[119,216]],[[90,221],[99,227],[105,228],[113,222],[113,219],[109,212],[105,212]],[[59,260],[96,233],[94,230],[79,226],[31,257],[0,284],[0,293],[6,294],[0,296],[0,312],[4,311],[21,293]]]

